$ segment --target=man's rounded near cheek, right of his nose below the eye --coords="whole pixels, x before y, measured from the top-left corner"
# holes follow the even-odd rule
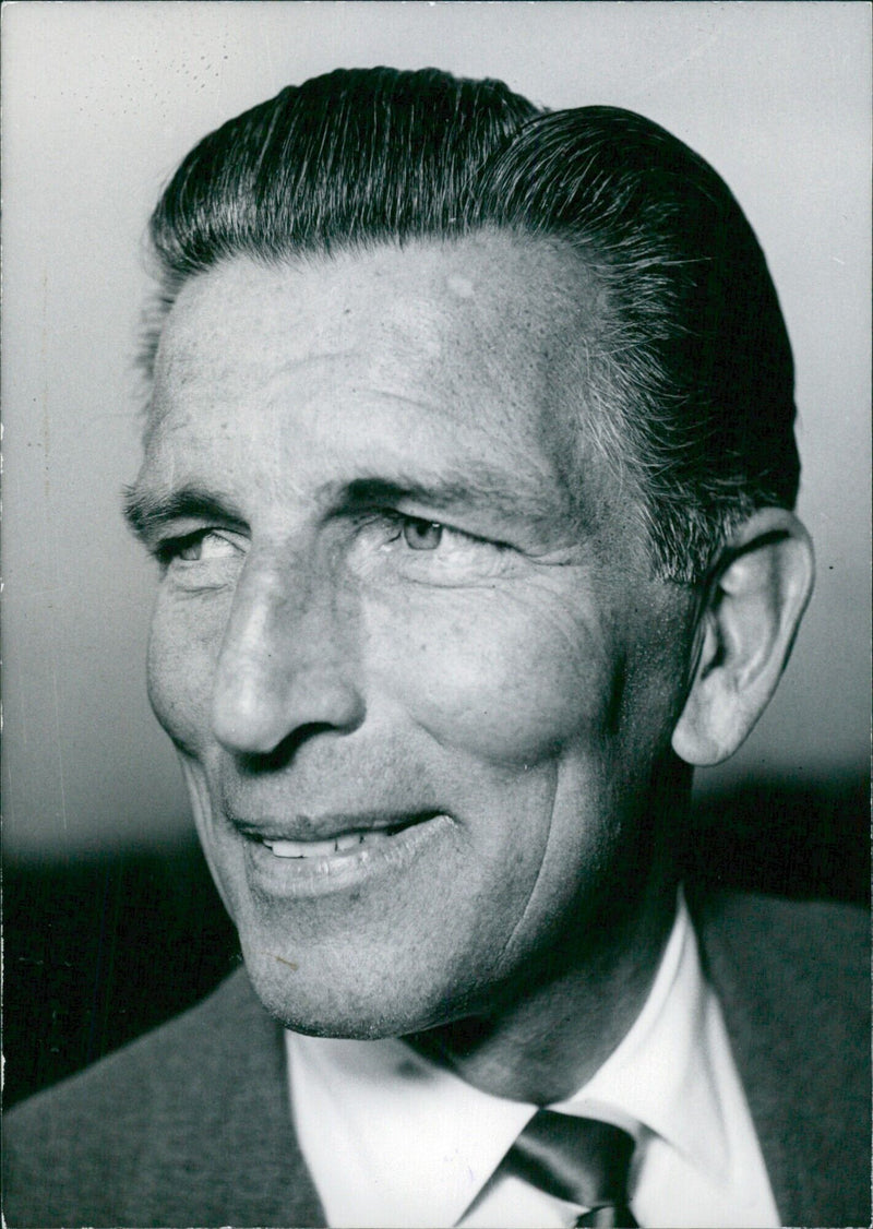
[[[443,745],[531,767],[606,728],[616,671],[584,621],[555,603],[455,592],[368,626],[381,687]]]

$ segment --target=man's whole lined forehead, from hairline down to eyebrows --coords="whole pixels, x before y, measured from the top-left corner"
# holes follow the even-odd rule
[[[366,476],[392,457],[406,471],[488,463],[574,501],[579,355],[598,318],[571,249],[508,234],[227,261],[191,280],[167,317],[146,474],[164,484],[194,461],[215,468],[215,441],[232,438],[221,467],[250,481],[256,455],[278,481],[289,458],[336,468],[342,454]]]

